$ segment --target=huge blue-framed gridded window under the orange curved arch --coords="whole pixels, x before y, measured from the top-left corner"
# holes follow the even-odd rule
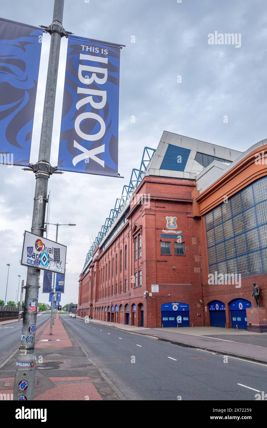
[[[205,223],[210,273],[267,272],[267,177],[208,212]]]

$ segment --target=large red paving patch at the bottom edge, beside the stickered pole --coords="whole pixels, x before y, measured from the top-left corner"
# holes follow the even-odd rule
[[[96,401],[102,400],[101,395],[97,392],[95,386],[91,382],[84,383],[64,383],[57,385],[54,388],[48,389],[42,394],[34,398],[35,401],[41,400],[71,400],[71,401]]]

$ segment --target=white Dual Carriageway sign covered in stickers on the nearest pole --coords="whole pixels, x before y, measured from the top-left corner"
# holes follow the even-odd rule
[[[66,245],[25,230],[21,265],[64,274],[66,250]]]

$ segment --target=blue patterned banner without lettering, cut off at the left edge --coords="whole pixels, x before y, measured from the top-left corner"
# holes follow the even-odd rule
[[[42,30],[0,18],[0,163],[28,165]]]

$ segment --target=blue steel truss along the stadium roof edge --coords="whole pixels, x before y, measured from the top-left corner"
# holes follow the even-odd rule
[[[87,253],[86,260],[84,263],[84,268],[87,266],[88,262],[93,256],[94,251],[96,250],[96,247],[100,244],[100,242],[105,238],[105,235],[108,233],[108,230],[113,225],[114,221],[117,219],[118,215],[122,211],[123,207],[128,203],[130,197],[132,196],[132,193],[134,190],[138,187],[138,185],[141,183],[144,173],[147,170],[147,166],[150,163],[150,160],[153,158],[154,153],[156,152],[156,149],[151,149],[151,147],[145,147],[140,168],[134,168],[132,170],[131,178],[129,181],[129,185],[123,186],[123,191],[121,194],[120,199],[117,198],[115,202],[114,208],[110,210],[109,217],[106,218],[105,224],[101,227],[101,231],[98,232],[98,235],[93,242],[92,246],[90,247],[90,250]]]

